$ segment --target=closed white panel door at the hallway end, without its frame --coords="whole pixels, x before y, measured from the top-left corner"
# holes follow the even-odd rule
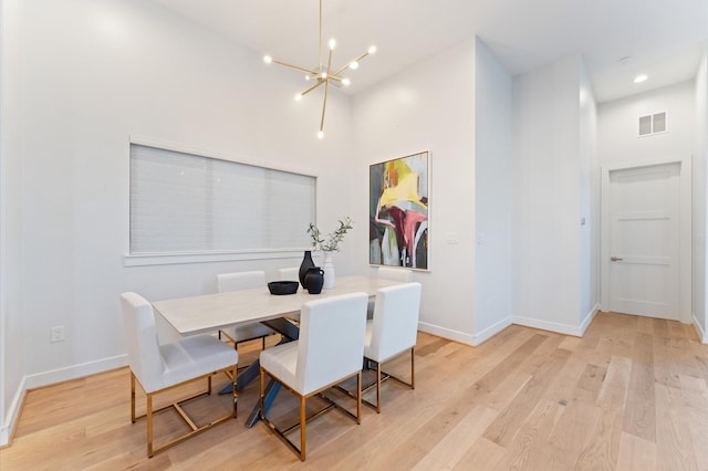
[[[678,320],[680,164],[610,172],[610,310]]]

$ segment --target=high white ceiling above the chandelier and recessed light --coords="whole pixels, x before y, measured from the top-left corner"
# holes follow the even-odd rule
[[[277,60],[319,63],[317,0],[153,1]],[[708,42],[708,0],[323,0],[323,17],[335,67],[378,49],[348,93],[477,34],[512,75],[581,53],[605,102],[693,78]],[[649,80],[634,84],[638,73]]]

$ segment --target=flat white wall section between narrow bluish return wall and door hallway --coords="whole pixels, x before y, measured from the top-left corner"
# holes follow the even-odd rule
[[[574,335],[582,335],[587,249],[580,226],[587,206],[581,205],[587,188],[580,185],[580,72],[574,55],[513,80],[513,322]]]

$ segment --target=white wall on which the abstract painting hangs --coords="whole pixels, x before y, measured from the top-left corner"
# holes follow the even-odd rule
[[[430,151],[429,272],[420,327],[473,343],[475,303],[475,41],[466,40],[352,98],[352,196],[356,220],[368,217],[368,166]],[[457,243],[448,243],[456,240]],[[365,240],[356,253],[368,253]],[[366,259],[357,271],[366,272]]]

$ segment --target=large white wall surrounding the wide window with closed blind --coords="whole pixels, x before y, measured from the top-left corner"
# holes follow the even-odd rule
[[[218,272],[263,266],[274,275],[300,263],[295,253],[124,266],[129,136],[316,175],[320,208],[341,195],[351,136],[348,98],[330,94],[320,142],[319,95],[295,103],[291,74],[150,2],[6,0],[2,13],[8,411],[23,387],[20,371],[34,387],[125,364],[121,292],[150,300],[207,293]],[[323,210],[319,222],[334,226],[342,216]],[[351,238],[365,239],[366,230],[361,224]],[[66,339],[50,343],[56,325]]]

